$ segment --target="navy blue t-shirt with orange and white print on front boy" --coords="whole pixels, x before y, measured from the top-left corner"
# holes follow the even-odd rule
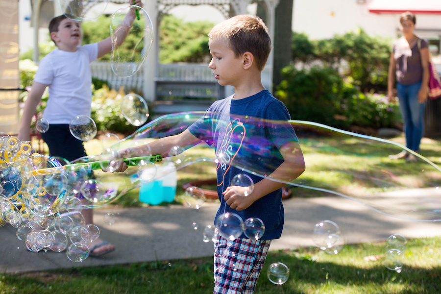
[[[278,149],[289,141],[298,142],[288,120],[290,115],[285,105],[264,90],[244,99],[233,100],[231,96],[216,101],[188,128],[194,136],[213,145],[219,159],[216,168],[221,205],[216,218],[226,212],[235,213],[244,221],[259,218],[265,224],[262,239],[267,240],[278,239],[282,234],[282,189],[263,196],[242,211],[227,205],[222,192],[239,173],[247,174],[257,183],[283,162]],[[247,237],[242,234],[240,238]]]

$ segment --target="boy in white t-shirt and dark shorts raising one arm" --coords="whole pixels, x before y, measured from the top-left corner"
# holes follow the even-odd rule
[[[130,5],[142,7],[141,0],[130,0]],[[118,47],[127,36],[136,17],[132,9],[120,27]],[[43,118],[49,122],[49,130],[42,134],[48,144],[49,156],[62,157],[68,161],[86,156],[83,142],[77,140],[69,131],[69,123],[79,115],[91,115],[92,75],[90,63],[110,53],[112,39],[108,38],[94,44],[80,46],[81,29],[78,22],[65,15],[53,18],[49,23],[50,38],[57,46],[42,58],[35,74],[32,88],[27,96],[18,138],[30,141],[30,123],[42,95],[49,86],[49,99]],[[85,199],[84,199],[85,201]],[[86,224],[93,223],[93,210],[82,211]],[[101,239],[87,244],[91,256],[100,256],[115,250],[115,246]]]

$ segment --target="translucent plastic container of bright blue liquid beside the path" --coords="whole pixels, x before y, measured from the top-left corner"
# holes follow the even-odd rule
[[[139,188],[139,200],[150,205],[173,202],[176,195],[176,183],[174,164],[158,166],[154,180]]]

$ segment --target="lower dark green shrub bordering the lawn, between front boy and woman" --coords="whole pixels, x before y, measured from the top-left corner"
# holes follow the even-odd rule
[[[284,80],[275,95],[285,103],[294,120],[339,128],[391,127],[400,120],[396,103],[389,103],[384,95],[361,93],[332,67],[298,70],[288,66],[282,75]]]

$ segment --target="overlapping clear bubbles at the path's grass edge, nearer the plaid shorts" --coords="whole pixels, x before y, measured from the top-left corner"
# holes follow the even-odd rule
[[[334,221],[323,220],[314,226],[313,241],[328,254],[338,254],[343,249],[340,227]]]

